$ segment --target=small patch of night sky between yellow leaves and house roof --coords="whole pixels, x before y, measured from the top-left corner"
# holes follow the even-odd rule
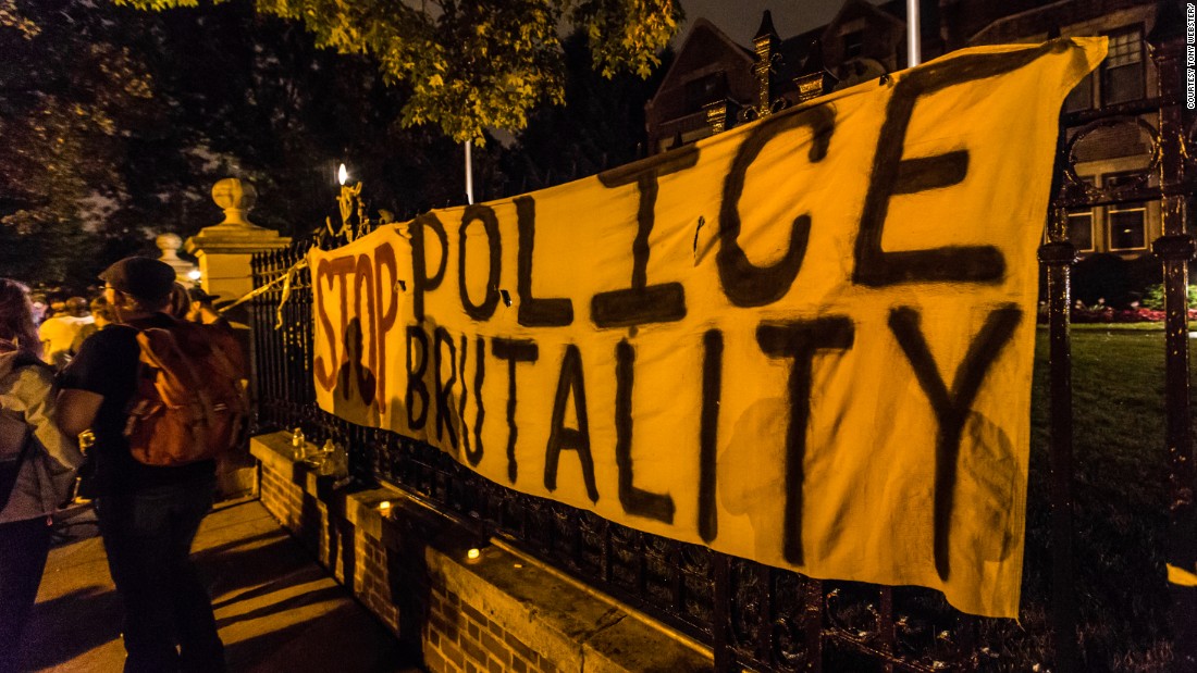
[[[678,32],[680,43],[689,32],[689,24],[704,17],[719,26],[728,37],[740,44],[751,44],[760,16],[765,10],[773,13],[773,27],[784,39],[836,18],[844,0],[680,0],[686,11],[686,23]],[[869,0],[880,5],[882,0]]]

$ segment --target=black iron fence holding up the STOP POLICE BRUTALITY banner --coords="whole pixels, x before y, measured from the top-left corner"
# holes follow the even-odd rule
[[[478,520],[488,532],[709,643],[719,671],[1195,671],[1197,588],[1177,583],[1159,587],[1171,595],[1171,618],[1163,619],[1171,628],[1166,624],[1162,629],[1171,631],[1167,642],[1148,647],[1141,659],[1123,661],[1125,667],[1117,659],[1084,655],[1080,641],[1101,625],[1082,617],[1088,612],[1078,602],[1089,592],[1081,585],[1073,551],[1076,477],[1069,281],[1077,252],[1069,240],[1069,213],[1157,201],[1162,235],[1153,251],[1162,264],[1165,285],[1167,432],[1162,447],[1155,438],[1144,438],[1152,442],[1144,452],[1167,453],[1171,483],[1148,487],[1171,489],[1171,504],[1167,512],[1144,516],[1171,521],[1167,563],[1189,571],[1195,568],[1186,305],[1193,239],[1186,216],[1197,173],[1185,151],[1186,143],[1195,141],[1195,126],[1192,112],[1184,109],[1183,18],[1178,14],[1172,22],[1161,16],[1157,25],[1149,37],[1160,74],[1156,97],[1062,120],[1056,196],[1040,251],[1046,274],[1050,384],[1047,399],[1038,404],[1047,405],[1050,440],[1043,470],[1050,476],[1038,488],[1033,482],[1028,494],[1028,539],[1038,536],[1044,542],[1028,543],[1028,588],[1020,623],[961,614],[929,589],[820,581],[642,533],[506,489],[433,447],[321,411],[312,387],[310,274],[300,270],[286,287],[275,282],[303,258],[310,241],[254,258],[255,287],[274,282],[254,300],[259,427],[302,427],[317,442],[334,439],[348,448],[351,473],[359,482],[393,483],[436,507]],[[1146,129],[1153,148],[1148,166],[1119,184],[1087,185],[1074,170],[1077,145],[1095,129],[1117,124]],[[284,293],[288,293],[286,301]],[[1163,583],[1162,569],[1157,570]],[[1122,580],[1104,581],[1117,591]],[[1137,604],[1132,600],[1130,605]],[[1137,620],[1157,620],[1149,608],[1142,613],[1135,610],[1118,616],[1126,620],[1129,631],[1137,628]]]

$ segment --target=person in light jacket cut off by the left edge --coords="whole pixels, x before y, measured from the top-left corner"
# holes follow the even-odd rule
[[[83,454],[55,422],[53,371],[25,286],[0,279],[0,673],[16,672],[20,635],[50,550],[50,518]]]

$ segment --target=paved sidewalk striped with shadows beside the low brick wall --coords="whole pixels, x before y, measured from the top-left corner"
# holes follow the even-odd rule
[[[93,516],[73,521],[69,539],[50,550],[24,662],[30,671],[119,672],[120,600]],[[219,506],[203,520],[194,552],[231,672],[419,671],[257,501]]]

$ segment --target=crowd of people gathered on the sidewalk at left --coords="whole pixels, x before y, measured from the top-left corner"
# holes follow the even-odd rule
[[[145,335],[194,339],[200,328],[181,325],[226,325],[214,296],[184,288],[157,259],[121,259],[99,279],[101,295],[48,307],[0,279],[0,673],[18,671],[54,516],[72,500],[85,460],[124,607],[124,671],[224,671],[211,599],[190,561],[213,503],[215,460],[147,464],[129,427],[152,369]],[[220,357],[236,367],[203,377],[243,372],[237,355]],[[86,458],[80,436],[93,440]]]

